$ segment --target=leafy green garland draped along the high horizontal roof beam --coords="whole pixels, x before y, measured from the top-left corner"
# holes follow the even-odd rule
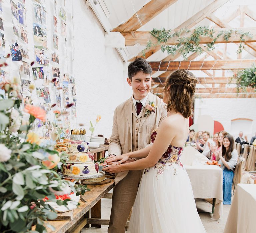
[[[214,36],[214,29],[209,28],[209,26],[198,26],[195,29],[193,29],[193,33],[189,36],[185,37],[187,33],[191,32],[189,29],[180,29],[178,32],[175,32],[171,34],[171,29],[165,30],[164,28],[162,30],[153,29],[150,31],[150,34],[155,37],[158,41],[157,44],[152,44],[152,42],[149,40],[147,43],[146,48],[143,50],[143,56],[145,56],[145,51],[149,49],[152,46],[156,46],[159,44],[161,45],[162,52],[167,51],[168,54],[174,55],[177,51],[186,58],[189,53],[198,53],[202,54],[204,50],[200,46],[200,36],[204,37],[210,37],[213,39],[212,42],[207,43],[205,45],[206,49],[208,51],[214,49],[214,43],[216,40],[223,35],[224,40],[228,41],[231,37],[232,33],[236,33],[237,35],[240,35],[240,45],[238,47],[237,53],[241,53],[244,48],[244,41],[246,41],[246,38],[252,38],[252,35],[250,32],[243,32],[240,30],[231,29],[228,31],[220,31],[217,36]],[[185,33],[185,36],[184,36]],[[178,43],[176,45],[166,45],[166,42],[171,39],[172,37],[178,37]]]

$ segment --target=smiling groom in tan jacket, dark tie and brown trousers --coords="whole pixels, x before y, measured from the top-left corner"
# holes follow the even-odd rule
[[[163,101],[149,92],[151,74],[152,68],[143,58],[137,58],[129,64],[127,82],[132,87],[133,95],[115,109],[109,155],[120,155],[147,146],[151,142],[151,132],[158,128],[167,116]],[[156,108],[155,113],[144,116],[146,105],[152,102]],[[127,162],[132,161],[134,161],[133,158],[128,159]],[[108,233],[125,232],[125,225],[135,201],[142,172],[143,170],[124,171],[115,175]]]

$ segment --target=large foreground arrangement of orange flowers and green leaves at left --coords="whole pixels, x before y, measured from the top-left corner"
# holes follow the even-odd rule
[[[34,225],[31,232],[54,231],[47,220],[57,214],[45,197],[66,205],[69,199],[55,195],[80,195],[88,189],[58,175],[67,156],[53,149],[55,141],[40,140],[32,131],[35,119],[45,121],[46,113],[32,105],[21,111],[18,80],[4,80],[0,88],[5,91],[0,95],[0,232],[30,232]]]

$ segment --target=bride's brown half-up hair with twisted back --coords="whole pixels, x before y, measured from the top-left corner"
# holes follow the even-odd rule
[[[166,79],[163,95],[168,112],[180,112],[184,118],[191,116],[196,82],[196,77],[183,69],[174,71]]]

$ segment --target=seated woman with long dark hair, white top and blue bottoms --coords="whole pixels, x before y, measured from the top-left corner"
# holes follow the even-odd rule
[[[223,170],[223,204],[231,204],[232,181],[234,177],[234,168],[237,164],[238,153],[234,149],[234,138],[227,134],[223,137],[222,149],[216,156],[216,160]]]

